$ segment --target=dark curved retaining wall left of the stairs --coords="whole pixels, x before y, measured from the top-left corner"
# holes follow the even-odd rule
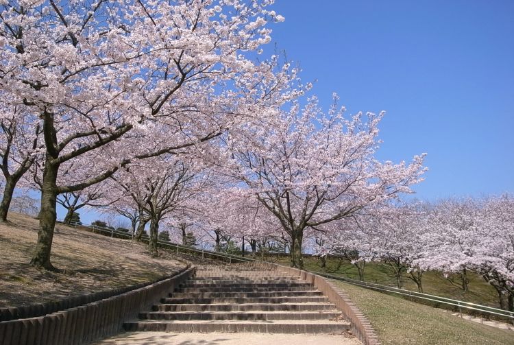
[[[123,323],[137,318],[162,296],[195,273],[195,267],[157,283],[37,318],[0,322],[2,345],[88,344],[119,333]]]

